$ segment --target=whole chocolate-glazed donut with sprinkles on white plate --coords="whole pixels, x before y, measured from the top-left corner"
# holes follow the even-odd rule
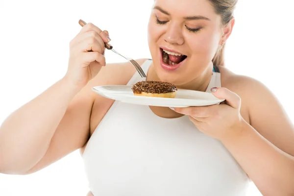
[[[169,82],[140,81],[133,85],[135,96],[175,98],[177,88]]]

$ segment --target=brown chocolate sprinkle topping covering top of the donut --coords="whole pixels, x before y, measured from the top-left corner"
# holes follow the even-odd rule
[[[133,85],[133,93],[171,93],[177,91],[175,85],[162,81],[140,81]]]

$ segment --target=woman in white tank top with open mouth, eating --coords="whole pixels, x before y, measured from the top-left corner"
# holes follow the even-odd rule
[[[264,85],[223,67],[236,2],[155,0],[152,60],[137,60],[147,80],[211,92],[223,104],[148,107],[98,96],[93,86],[142,78],[129,63],[105,66],[108,32],[89,23],[71,41],[65,76],[0,127],[0,171],[36,172],[80,148],[93,195],[244,196],[249,179],[263,195],[293,195],[292,124]]]

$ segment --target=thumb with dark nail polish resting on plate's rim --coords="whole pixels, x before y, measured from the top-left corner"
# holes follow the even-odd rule
[[[241,98],[236,93],[223,87],[214,87],[210,91],[216,98],[225,99],[227,105],[235,109],[240,109]]]

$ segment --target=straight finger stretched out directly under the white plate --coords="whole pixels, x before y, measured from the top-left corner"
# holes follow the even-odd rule
[[[208,106],[174,108],[175,112],[180,114],[206,118],[210,116],[210,108]]]

